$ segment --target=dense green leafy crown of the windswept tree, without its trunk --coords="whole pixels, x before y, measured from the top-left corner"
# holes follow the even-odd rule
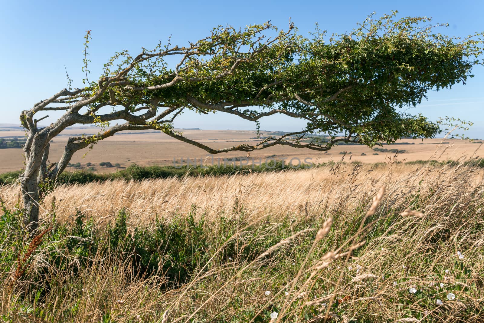
[[[416,106],[427,92],[473,77],[473,66],[482,64],[482,33],[450,37],[436,31],[447,25],[429,24],[427,17],[398,19],[397,14],[369,15],[357,28],[329,40],[319,28],[310,37],[299,35],[292,24],[269,40],[265,32],[277,29],[268,22],[240,30],[217,26],[189,47],[160,43],[152,50],[143,48],[136,58],[123,50],[106,62],[99,83],[92,82],[83,95],[96,98],[92,111],[96,104],[114,100],[134,112],[162,98],[166,107],[228,112],[256,122],[261,113],[278,108],[308,121],[302,141],[286,139],[313,148],[339,142],[373,147],[399,138],[431,138],[447,130],[440,126],[465,128],[458,119],[432,122],[400,108]],[[90,38],[87,31],[83,81]],[[173,54],[186,55],[170,68],[165,58]],[[101,91],[104,82],[109,86]],[[227,109],[227,102],[240,108]],[[93,114],[92,122],[100,123],[96,118]],[[171,122],[154,118],[143,126],[175,135]],[[91,139],[97,142],[104,136],[99,135]]]

